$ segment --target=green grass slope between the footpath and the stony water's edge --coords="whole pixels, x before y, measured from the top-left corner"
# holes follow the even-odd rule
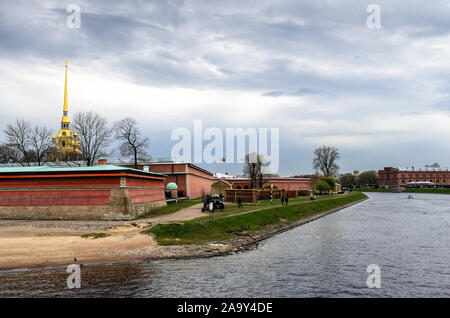
[[[298,202],[299,204],[295,205],[279,206],[262,211],[215,218],[211,221],[208,218],[200,218],[191,221],[160,224],[142,233],[153,234],[160,245],[196,244],[225,240],[280,223],[294,221],[365,197],[361,192],[355,191],[347,195],[324,197],[316,201]]]

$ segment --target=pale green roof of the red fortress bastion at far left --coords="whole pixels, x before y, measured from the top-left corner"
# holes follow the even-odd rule
[[[35,167],[6,167],[0,168],[0,174],[3,173],[58,173],[58,172],[106,172],[106,171],[132,171],[143,174],[158,175],[165,177],[163,173],[143,171],[128,167],[121,167],[115,165],[97,165],[92,167],[51,167],[51,166],[35,166]]]

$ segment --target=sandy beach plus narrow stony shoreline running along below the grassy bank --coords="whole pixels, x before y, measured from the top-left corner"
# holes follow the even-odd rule
[[[74,263],[121,263],[135,260],[184,259],[229,255],[249,250],[277,233],[306,224],[330,213],[358,204],[365,199],[297,221],[281,224],[251,235],[225,241],[193,245],[159,246],[144,229],[169,221],[204,216],[198,206],[187,211],[136,222],[0,221],[0,270],[36,268]],[[152,222],[153,221],[153,222]],[[58,226],[59,225],[59,226]],[[92,232],[109,236],[82,238]]]

